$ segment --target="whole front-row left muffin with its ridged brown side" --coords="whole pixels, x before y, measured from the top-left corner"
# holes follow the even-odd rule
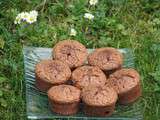
[[[54,86],[48,91],[51,110],[61,115],[72,115],[78,112],[80,90],[71,85]]]

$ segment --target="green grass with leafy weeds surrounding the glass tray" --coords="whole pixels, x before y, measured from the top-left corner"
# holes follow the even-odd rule
[[[144,119],[160,119],[159,0],[100,0],[89,6],[86,0],[0,1],[0,119],[24,120],[25,87],[23,45],[52,47],[59,40],[75,39],[88,48],[112,46],[132,48],[141,74]],[[36,23],[14,25],[22,11],[36,9]],[[95,18],[89,21],[84,13]],[[70,36],[70,28],[77,31]]]

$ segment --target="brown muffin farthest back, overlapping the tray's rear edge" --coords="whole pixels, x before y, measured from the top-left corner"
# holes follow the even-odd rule
[[[73,69],[83,65],[87,58],[87,49],[78,41],[64,40],[53,48],[53,57],[66,62]]]

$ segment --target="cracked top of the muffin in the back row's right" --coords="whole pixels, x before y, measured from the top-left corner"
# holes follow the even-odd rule
[[[99,48],[88,56],[88,62],[102,70],[114,70],[122,66],[123,55],[115,48]]]

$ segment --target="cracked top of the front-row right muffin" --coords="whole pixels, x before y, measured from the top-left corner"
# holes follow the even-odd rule
[[[117,93],[113,88],[90,86],[82,90],[82,101],[91,106],[107,106],[116,103]]]

